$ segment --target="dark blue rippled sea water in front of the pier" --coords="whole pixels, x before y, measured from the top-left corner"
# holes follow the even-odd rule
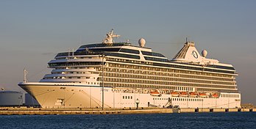
[[[0,128],[256,128],[256,112],[1,115]]]

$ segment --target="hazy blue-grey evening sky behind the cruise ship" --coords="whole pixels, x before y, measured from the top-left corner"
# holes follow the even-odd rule
[[[242,103],[256,105],[255,6],[253,0],[1,0],[0,87],[21,90],[24,67],[29,81],[39,81],[55,54],[100,43],[114,29],[118,41],[137,45],[144,37],[146,47],[169,59],[188,37],[208,58],[233,64]]]

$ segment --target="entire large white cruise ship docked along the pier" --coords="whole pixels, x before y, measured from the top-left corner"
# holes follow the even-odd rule
[[[115,37],[112,29],[102,43],[59,53],[48,63],[50,74],[18,85],[42,108],[241,107],[232,64],[206,58],[195,43],[167,59],[143,38],[132,45]]]

